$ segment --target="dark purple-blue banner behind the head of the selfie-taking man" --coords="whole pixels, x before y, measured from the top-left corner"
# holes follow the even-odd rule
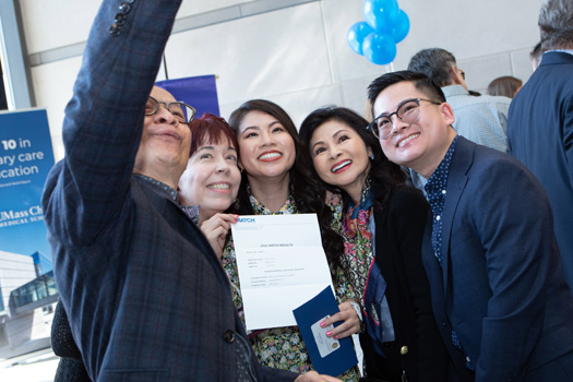
[[[175,99],[191,105],[196,110],[195,118],[204,112],[220,117],[216,76],[213,74],[158,81],[155,85],[171,93]]]

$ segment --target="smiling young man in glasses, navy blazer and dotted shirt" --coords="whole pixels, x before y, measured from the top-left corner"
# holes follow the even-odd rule
[[[387,73],[368,92],[384,154],[428,180],[422,260],[451,381],[572,381],[573,299],[539,181],[457,135],[425,74]]]

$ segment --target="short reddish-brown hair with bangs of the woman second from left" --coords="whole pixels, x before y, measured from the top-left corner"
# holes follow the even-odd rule
[[[211,112],[205,112],[201,118],[189,122],[189,130],[191,130],[190,156],[193,156],[204,144],[219,144],[225,140],[237,150],[237,153],[239,152],[239,142],[235,132],[223,118]]]

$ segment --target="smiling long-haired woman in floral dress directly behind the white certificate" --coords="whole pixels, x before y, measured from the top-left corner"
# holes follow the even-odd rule
[[[242,182],[239,190],[240,215],[271,215],[317,213],[322,234],[322,243],[341,312],[333,315],[334,321],[344,321],[332,330],[337,338],[347,337],[360,330],[358,309],[350,299],[354,291],[339,272],[339,254],[343,240],[331,226],[331,208],[323,202],[324,188],[311,170],[311,162],[297,134],[293,120],[278,105],[262,99],[253,99],[235,110],[229,124],[235,130],[240,148]],[[230,253],[232,255],[232,253]],[[237,265],[234,256],[223,255],[223,265],[231,284],[239,285]],[[235,303],[242,317],[240,293]],[[356,306],[356,301],[353,301]],[[255,331],[250,334],[251,345],[261,365],[305,372],[310,370],[311,361],[297,326]],[[341,375],[345,381],[357,381],[357,368]]]

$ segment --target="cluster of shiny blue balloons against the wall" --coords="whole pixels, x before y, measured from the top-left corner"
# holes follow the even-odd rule
[[[370,62],[385,65],[396,57],[396,44],[408,35],[410,21],[397,0],[366,0],[365,21],[348,29],[348,44]]]

